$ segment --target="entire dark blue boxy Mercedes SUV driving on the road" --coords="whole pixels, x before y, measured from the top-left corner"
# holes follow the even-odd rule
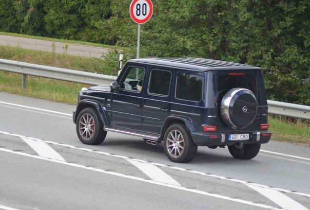
[[[251,159],[271,139],[262,69],[203,58],[129,60],[110,87],[82,88],[73,121],[84,144],[135,135],[163,141],[173,162],[191,161],[197,146]]]

